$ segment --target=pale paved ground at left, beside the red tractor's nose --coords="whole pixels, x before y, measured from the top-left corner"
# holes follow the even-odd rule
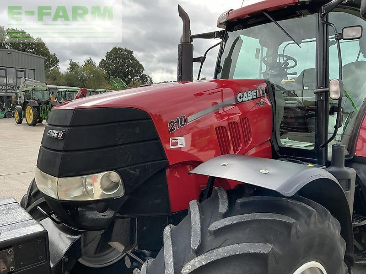
[[[27,192],[45,125],[30,127],[25,121],[16,125],[14,119],[0,119],[0,196],[10,195],[19,202]],[[353,274],[366,274],[366,266]]]

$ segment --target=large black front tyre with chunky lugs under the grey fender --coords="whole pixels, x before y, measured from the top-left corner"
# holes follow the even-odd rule
[[[339,222],[318,203],[216,188],[164,229],[164,248],[141,274],[346,274],[345,251]]]

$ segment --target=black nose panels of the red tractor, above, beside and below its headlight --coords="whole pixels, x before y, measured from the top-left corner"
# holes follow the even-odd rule
[[[48,136],[49,130],[63,131],[63,139]],[[41,171],[59,178],[119,172],[125,195],[107,203],[111,216],[118,212],[124,217],[170,214],[167,165],[150,116],[124,107],[52,110],[37,161]],[[104,229],[111,222],[107,213],[96,212],[94,201],[45,198],[56,215],[71,227]]]

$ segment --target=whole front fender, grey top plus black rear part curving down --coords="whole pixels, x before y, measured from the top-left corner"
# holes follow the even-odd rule
[[[319,203],[339,221],[341,236],[347,244],[348,266],[353,264],[350,209],[342,187],[328,171],[288,161],[231,154],[210,159],[190,173],[251,184],[284,197],[300,195]]]

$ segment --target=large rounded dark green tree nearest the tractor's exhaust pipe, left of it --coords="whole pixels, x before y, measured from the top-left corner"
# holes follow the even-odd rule
[[[144,73],[143,65],[129,49],[113,47],[100,61],[99,67],[106,73],[107,77],[121,78],[128,85],[132,82],[152,83],[152,78]]]

